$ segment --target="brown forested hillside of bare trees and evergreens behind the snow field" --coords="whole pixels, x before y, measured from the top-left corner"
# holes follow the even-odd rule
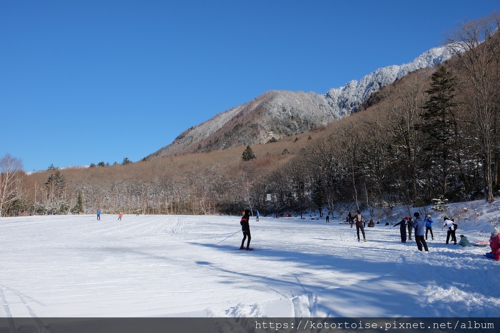
[[[449,35],[450,60],[383,87],[348,117],[276,142],[31,175],[5,156],[0,215],[240,214],[248,206],[275,214],[492,201],[500,190],[498,27],[499,12],[465,23]]]

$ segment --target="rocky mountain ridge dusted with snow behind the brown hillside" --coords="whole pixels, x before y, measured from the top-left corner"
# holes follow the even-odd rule
[[[326,125],[358,110],[371,94],[396,79],[434,66],[453,55],[447,46],[432,48],[410,63],[379,68],[326,94],[271,90],[254,100],[219,113],[182,132],[147,159],[265,143]]]

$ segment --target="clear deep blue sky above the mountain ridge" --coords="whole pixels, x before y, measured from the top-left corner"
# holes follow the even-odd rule
[[[326,93],[498,0],[0,0],[0,157],[138,161],[269,89]]]

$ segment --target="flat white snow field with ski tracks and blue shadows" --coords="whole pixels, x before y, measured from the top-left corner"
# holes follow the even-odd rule
[[[453,209],[458,239],[488,240],[500,217]],[[235,216],[1,218],[0,317],[498,317],[500,263],[445,245],[443,213],[427,212],[427,253],[400,242],[399,218],[365,228],[367,243],[340,217],[251,218],[261,251],[236,250],[241,232],[222,241]]]

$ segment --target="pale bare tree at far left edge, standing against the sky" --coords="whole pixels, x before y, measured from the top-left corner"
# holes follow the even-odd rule
[[[0,217],[9,204],[23,198],[22,174],[21,160],[10,154],[0,158]]]

